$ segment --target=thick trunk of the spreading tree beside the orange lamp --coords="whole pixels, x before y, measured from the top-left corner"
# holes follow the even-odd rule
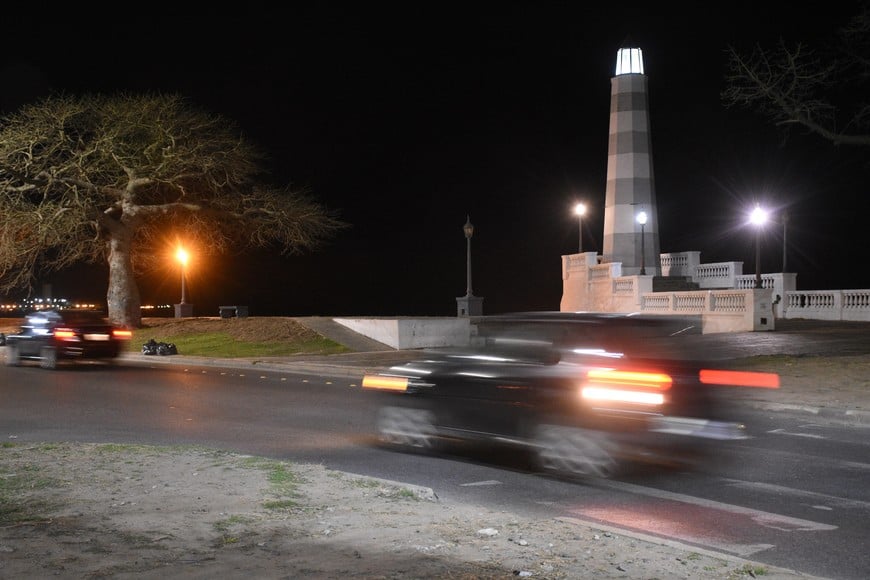
[[[133,275],[130,234],[114,232],[109,239],[109,320],[127,328],[142,326],[142,298]]]

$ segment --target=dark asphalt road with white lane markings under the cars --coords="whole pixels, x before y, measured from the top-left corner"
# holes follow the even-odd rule
[[[151,368],[149,368],[149,366]],[[606,482],[545,477],[497,449],[447,456],[374,445],[353,378],[194,365],[47,372],[0,367],[0,436],[190,443],[431,487],[445,502],[631,529],[829,578],[864,578],[870,512],[863,430],[747,415],[754,437],[697,471]]]

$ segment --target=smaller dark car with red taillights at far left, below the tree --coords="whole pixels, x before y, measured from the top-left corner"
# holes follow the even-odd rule
[[[24,320],[16,334],[6,337],[6,364],[39,361],[56,369],[62,361],[117,358],[132,337],[100,313],[90,310],[40,310]]]

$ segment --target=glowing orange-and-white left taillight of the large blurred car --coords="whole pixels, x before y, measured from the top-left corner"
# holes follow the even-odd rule
[[[665,391],[674,383],[670,375],[658,371],[593,369],[586,378],[580,390],[584,399],[640,405],[664,404]]]

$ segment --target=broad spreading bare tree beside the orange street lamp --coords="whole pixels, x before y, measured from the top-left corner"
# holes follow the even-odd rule
[[[0,292],[106,261],[109,318],[141,325],[136,275],[173,235],[216,253],[318,247],[347,227],[177,95],[52,96],[0,119]]]

